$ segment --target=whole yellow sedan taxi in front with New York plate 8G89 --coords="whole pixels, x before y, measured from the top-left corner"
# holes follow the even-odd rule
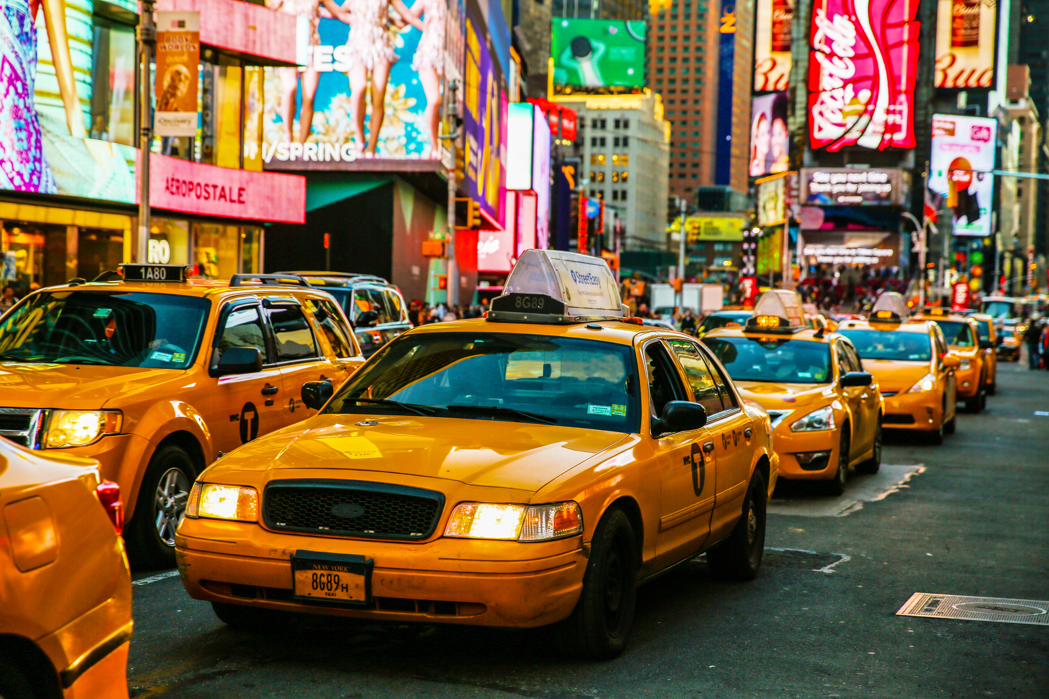
[[[551,630],[618,654],[636,585],[704,551],[754,577],[768,414],[688,335],[624,319],[599,258],[527,250],[485,319],[385,345],[304,422],[193,484],[176,537],[220,619],[281,612]]]

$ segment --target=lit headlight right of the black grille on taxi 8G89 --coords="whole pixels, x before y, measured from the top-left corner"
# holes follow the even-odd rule
[[[582,512],[574,502],[532,506],[464,502],[456,505],[448,518],[445,536],[548,541],[582,530]]]

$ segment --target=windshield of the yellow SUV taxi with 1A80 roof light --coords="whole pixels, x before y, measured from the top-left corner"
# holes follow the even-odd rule
[[[206,299],[127,291],[42,291],[0,324],[0,362],[186,369]]]

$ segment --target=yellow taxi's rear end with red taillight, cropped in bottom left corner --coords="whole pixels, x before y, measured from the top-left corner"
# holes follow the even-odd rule
[[[131,573],[98,465],[0,439],[0,697],[127,699]]]

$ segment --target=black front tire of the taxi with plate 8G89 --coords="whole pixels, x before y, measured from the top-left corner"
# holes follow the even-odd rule
[[[591,541],[583,589],[566,619],[556,626],[566,656],[608,660],[623,652],[637,602],[637,536],[618,507],[604,514]]]

